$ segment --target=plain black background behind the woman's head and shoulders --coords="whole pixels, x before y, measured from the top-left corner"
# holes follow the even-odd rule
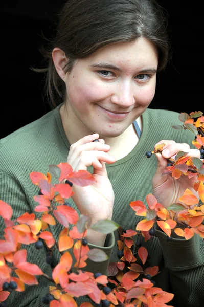
[[[94,1],[94,0],[93,0]],[[0,5],[1,119],[0,138],[48,111],[43,100],[43,74],[39,48],[55,30],[57,13],[64,1],[21,0]],[[152,108],[177,112],[203,111],[202,9],[195,2],[161,0],[169,13],[168,31],[172,57],[158,74]]]

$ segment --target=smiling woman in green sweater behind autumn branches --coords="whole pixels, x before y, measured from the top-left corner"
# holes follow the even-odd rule
[[[131,201],[145,201],[147,194],[154,193],[168,207],[186,188],[194,191],[194,179],[162,176],[167,158],[180,150],[200,158],[199,150],[190,148],[192,134],[171,127],[180,123],[177,113],[149,108],[156,73],[165,68],[168,50],[165,15],[155,1],[70,0],[65,4],[44,70],[54,109],[1,140],[1,199],[13,207],[14,218],[35,212],[33,196],[38,189],[29,179],[30,172],[46,173],[49,164],[60,162],[93,173],[96,184],[73,185],[70,200],[79,214],[92,217],[92,223],[109,218],[134,230],[141,218],[134,215]],[[166,144],[162,155],[146,159],[145,152],[157,143]],[[53,227],[56,240],[61,230],[59,224]],[[202,239],[196,235],[188,241],[167,242],[162,231],[156,230],[156,235],[145,243],[150,266],[160,268],[156,286],[174,293],[174,306],[201,306]],[[98,263],[87,260],[84,269],[107,274],[108,263],[119,260],[117,231],[106,236],[88,230],[86,239],[90,248],[101,248],[110,258]],[[27,248],[27,261],[51,276],[46,250]],[[59,257],[55,250],[53,267]],[[17,301],[19,307],[41,306],[50,282],[41,276],[38,281],[40,287],[27,287],[20,295],[12,292],[8,305]],[[77,299],[78,305],[83,299]]]

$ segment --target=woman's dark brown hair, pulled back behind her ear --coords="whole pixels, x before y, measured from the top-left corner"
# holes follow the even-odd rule
[[[59,13],[57,34],[43,55],[48,60],[46,93],[51,107],[65,98],[65,83],[59,77],[52,51],[60,48],[69,58],[65,72],[75,61],[111,43],[130,42],[145,37],[157,47],[158,71],[168,61],[167,13],[155,0],[69,0]]]

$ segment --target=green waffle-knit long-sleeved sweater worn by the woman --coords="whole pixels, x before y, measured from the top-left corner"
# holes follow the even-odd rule
[[[151,181],[156,169],[156,157],[147,159],[145,152],[152,150],[156,142],[162,139],[185,142],[193,148],[194,138],[188,130],[175,130],[171,127],[181,124],[178,113],[148,108],[142,118],[143,130],[137,146],[125,158],[114,164],[106,164],[108,177],[115,192],[112,220],[121,227],[132,230],[135,230],[142,217],[135,215],[129,203],[135,200],[146,201],[147,194],[152,192]],[[38,194],[39,189],[31,182],[29,174],[32,171],[46,174],[49,164],[66,162],[69,148],[59,107],[0,140],[0,200],[12,206],[13,218],[26,211],[34,212],[37,217],[41,215],[34,211],[37,203],[33,196]],[[92,167],[88,170],[92,172]],[[52,183],[57,183],[54,178]],[[70,201],[77,210],[72,199]],[[52,229],[57,240],[63,226],[57,223]],[[4,222],[0,217],[1,237],[3,232]],[[160,269],[160,273],[154,277],[156,287],[175,294],[171,302],[175,307],[203,306],[203,239],[194,235],[190,240],[173,239],[172,242],[167,242],[163,232],[157,230],[156,234],[157,237],[144,244],[151,256],[150,266],[158,266]],[[118,239],[116,230],[107,235],[105,247],[101,248],[110,256],[110,262],[118,261]],[[89,244],[89,247],[96,246]],[[34,244],[22,248],[28,249],[27,261],[37,264],[44,273],[51,276],[52,268],[45,261],[45,249],[37,250]],[[60,254],[55,250],[54,266],[59,257]],[[93,262],[88,259],[84,270],[107,274],[107,266],[108,260]],[[7,307],[43,306],[41,298],[48,292],[50,282],[42,276],[37,276],[37,279],[39,286],[26,286],[25,292],[11,291],[5,301]],[[85,300],[88,301],[87,298]],[[80,305],[82,301],[84,298],[78,298],[77,304]]]

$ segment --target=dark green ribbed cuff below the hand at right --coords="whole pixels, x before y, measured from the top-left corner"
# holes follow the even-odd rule
[[[161,248],[163,251],[165,265],[171,271],[183,271],[197,267],[200,257],[200,236],[194,234],[189,239],[173,238],[172,241],[167,241],[167,235],[160,231],[155,230],[156,236],[160,240]]]

